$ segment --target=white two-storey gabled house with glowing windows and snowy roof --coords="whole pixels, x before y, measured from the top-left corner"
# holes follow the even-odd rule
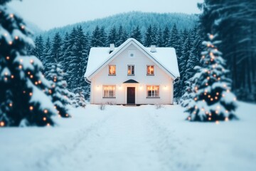
[[[92,104],[173,104],[179,77],[174,48],[145,48],[134,38],[91,48],[85,72]]]

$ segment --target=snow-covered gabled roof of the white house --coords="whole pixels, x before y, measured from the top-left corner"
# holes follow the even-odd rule
[[[122,43],[121,46],[114,48],[112,53],[110,52],[110,47],[93,47],[90,49],[90,54],[87,63],[87,69],[85,72],[85,78],[90,81],[92,76],[94,76],[97,71],[105,67],[110,61],[118,56],[126,47],[130,44],[134,44],[140,48],[140,50],[146,54],[152,61],[154,61],[160,68],[164,69],[166,73],[169,73],[172,78],[176,79],[180,77],[178,71],[178,61],[176,57],[176,51],[174,48],[156,48],[156,52],[152,53],[151,48],[145,48],[142,43],[139,43],[134,38],[128,38],[127,41]]]

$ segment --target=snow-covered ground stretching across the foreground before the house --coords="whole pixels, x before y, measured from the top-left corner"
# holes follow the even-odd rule
[[[256,105],[189,123],[179,105],[73,109],[54,128],[1,128],[0,170],[256,170]]]

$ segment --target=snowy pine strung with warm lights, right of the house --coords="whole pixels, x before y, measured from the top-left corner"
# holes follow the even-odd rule
[[[196,66],[197,73],[190,79],[191,87],[182,106],[191,121],[230,120],[236,118],[236,97],[231,93],[228,70],[217,48],[220,41],[215,40],[217,35],[208,36],[209,41],[203,41],[206,51],[201,53],[202,66]]]

